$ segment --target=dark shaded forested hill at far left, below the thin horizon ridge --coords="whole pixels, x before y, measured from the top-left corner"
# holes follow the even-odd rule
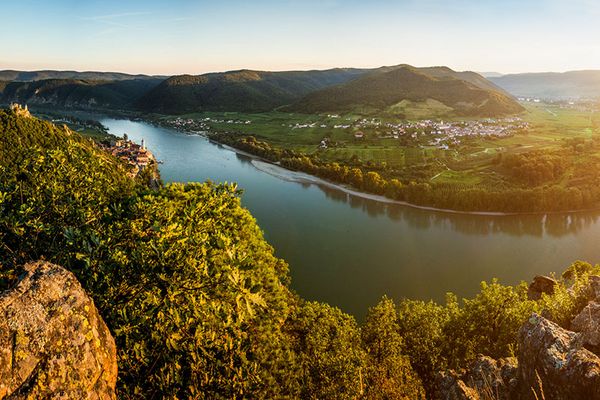
[[[162,79],[117,81],[46,79],[29,82],[0,82],[0,103],[51,105],[64,108],[131,109]]]

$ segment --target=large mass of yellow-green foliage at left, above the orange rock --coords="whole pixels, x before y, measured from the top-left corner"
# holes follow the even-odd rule
[[[235,187],[152,191],[74,132],[0,121],[3,276],[39,258],[77,275],[116,338],[121,397],[268,397],[293,298]]]

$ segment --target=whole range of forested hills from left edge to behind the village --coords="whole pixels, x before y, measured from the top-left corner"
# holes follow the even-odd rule
[[[0,71],[0,103],[182,114],[199,111],[498,116],[522,111],[474,72],[409,65],[321,71],[239,70],[169,78],[120,73]]]

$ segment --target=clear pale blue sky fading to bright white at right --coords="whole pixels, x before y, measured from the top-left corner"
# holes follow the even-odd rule
[[[1,0],[0,10],[0,70],[600,69],[599,0]]]

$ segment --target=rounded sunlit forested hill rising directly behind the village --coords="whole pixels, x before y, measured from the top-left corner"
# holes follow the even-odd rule
[[[404,117],[499,116],[523,108],[504,90],[474,72],[447,67],[382,67],[310,94],[287,107],[304,113],[387,112]]]

